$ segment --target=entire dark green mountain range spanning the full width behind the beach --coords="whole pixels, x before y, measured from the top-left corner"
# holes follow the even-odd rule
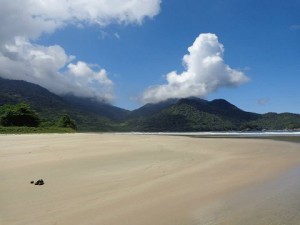
[[[68,113],[79,131],[226,131],[299,129],[300,115],[246,112],[224,99],[169,99],[128,111],[90,98],[58,96],[25,81],[0,78],[0,106],[26,102],[44,120]]]

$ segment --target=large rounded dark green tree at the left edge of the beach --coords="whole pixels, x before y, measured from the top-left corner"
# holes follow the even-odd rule
[[[38,114],[26,103],[0,107],[0,124],[3,126],[37,127],[39,123]]]

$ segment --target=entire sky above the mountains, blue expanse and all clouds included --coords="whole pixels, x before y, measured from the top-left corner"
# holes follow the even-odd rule
[[[0,77],[126,109],[300,113],[299,0],[0,0]]]

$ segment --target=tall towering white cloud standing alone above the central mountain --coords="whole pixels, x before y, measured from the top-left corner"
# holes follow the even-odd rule
[[[149,87],[144,102],[168,98],[205,97],[222,87],[236,87],[249,80],[241,71],[224,62],[224,46],[215,34],[200,34],[183,57],[185,71],[166,75],[166,84]]]

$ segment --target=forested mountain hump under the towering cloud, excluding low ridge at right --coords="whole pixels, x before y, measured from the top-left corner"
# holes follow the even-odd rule
[[[165,106],[165,107],[162,107]],[[142,111],[141,111],[142,109]],[[136,110],[144,112],[145,106]],[[147,113],[128,121],[135,131],[209,131],[238,130],[241,124],[261,115],[245,112],[224,99],[177,99],[146,105]]]

